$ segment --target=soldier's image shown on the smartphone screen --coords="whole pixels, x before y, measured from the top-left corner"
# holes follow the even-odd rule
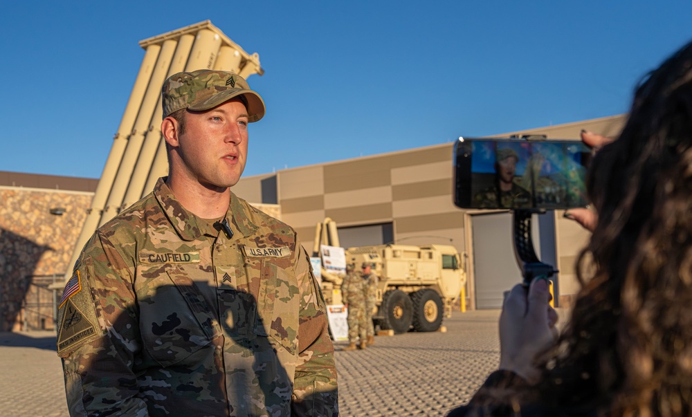
[[[514,183],[519,156],[513,149],[498,149],[495,153],[495,180],[493,185],[473,196],[476,208],[528,208],[531,194]]]

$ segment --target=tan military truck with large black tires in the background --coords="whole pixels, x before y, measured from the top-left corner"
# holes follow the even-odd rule
[[[318,223],[313,255],[320,245],[338,246],[336,223]],[[455,300],[466,285],[464,254],[451,245],[372,245],[347,248],[346,262],[360,268],[373,265],[379,278],[374,324],[381,330],[405,333],[437,331],[450,317]],[[341,304],[343,278],[322,268],[322,294],[327,304]]]

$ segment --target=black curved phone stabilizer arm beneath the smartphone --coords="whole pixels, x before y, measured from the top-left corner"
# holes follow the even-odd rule
[[[552,277],[558,272],[552,265],[541,262],[534,250],[534,241],[531,239],[531,210],[514,210],[514,254],[524,277],[524,285],[529,286],[531,281],[540,276]],[[543,214],[545,212],[539,212]]]

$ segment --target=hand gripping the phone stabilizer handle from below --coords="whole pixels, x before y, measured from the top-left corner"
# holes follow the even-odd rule
[[[500,369],[532,382],[540,376],[536,356],[557,339],[558,315],[549,305],[547,279],[537,278],[527,288],[518,284],[504,300],[500,315]]]

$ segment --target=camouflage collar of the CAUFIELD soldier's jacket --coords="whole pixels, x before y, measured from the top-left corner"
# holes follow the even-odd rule
[[[175,198],[171,189],[166,185],[166,178],[158,178],[154,186],[154,196],[156,196],[158,204],[161,205],[161,209],[163,209],[168,221],[178,232],[181,239],[184,241],[199,239],[208,228],[206,223],[203,223],[203,220],[198,216],[185,210],[185,207]],[[237,229],[244,237],[250,236],[257,230],[257,225],[251,221],[248,215],[246,205],[233,192],[230,193],[230,203],[228,204],[226,219],[228,219],[228,223],[235,225],[234,229]]]

